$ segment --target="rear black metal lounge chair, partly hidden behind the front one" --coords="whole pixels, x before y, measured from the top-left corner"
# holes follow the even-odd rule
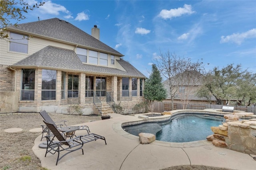
[[[67,125],[66,125],[66,120],[54,122],[54,121],[52,120],[52,118],[48,115],[48,113],[47,113],[45,110],[44,110],[44,111],[40,111],[39,113],[40,113],[40,115],[44,118],[44,120],[45,120],[46,122],[52,123],[57,129],[60,129],[60,128],[61,128],[62,126],[64,126],[64,125],[67,127]],[[56,123],[63,123],[64,125],[63,125],[63,124],[57,124],[57,125],[56,125]],[[49,131],[48,131],[47,126],[41,125],[41,127],[42,127],[42,137],[41,137],[41,141],[42,141],[42,139],[43,139],[43,137],[44,137],[44,133],[47,133],[47,134],[49,135]],[[89,127],[86,126],[86,125],[80,126],[80,128],[79,128],[78,130],[86,130],[88,134],[90,133],[90,129],[89,129]],[[75,135],[75,136],[76,136],[76,135]]]

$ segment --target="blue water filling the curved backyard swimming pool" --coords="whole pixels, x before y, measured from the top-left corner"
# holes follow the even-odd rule
[[[212,126],[222,124],[223,118],[216,119],[212,116],[184,115],[162,123],[144,123],[124,127],[125,131],[138,136],[139,133],[152,133],[156,140],[166,142],[191,142],[205,140],[212,135]]]

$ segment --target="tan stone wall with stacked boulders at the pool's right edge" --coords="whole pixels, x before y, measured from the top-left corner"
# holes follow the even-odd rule
[[[256,154],[256,115],[241,112],[224,115],[224,118],[226,121],[223,125],[211,127],[214,134],[208,136],[207,140],[217,147]]]

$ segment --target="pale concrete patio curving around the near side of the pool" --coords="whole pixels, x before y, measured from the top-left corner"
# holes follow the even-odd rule
[[[177,165],[206,165],[237,170],[255,170],[256,161],[248,154],[218,148],[211,142],[167,143],[154,141],[142,145],[139,137],[124,131],[121,124],[138,120],[138,117],[111,114],[111,119],[92,121],[85,124],[91,133],[102,135],[104,141],[97,140],[84,144],[84,155],[78,150],[62,158],[56,166],[57,154],[47,154],[38,146],[41,136],[35,139],[32,148],[40,159],[42,167],[50,170],[159,170]],[[83,135],[86,131],[76,131]]]

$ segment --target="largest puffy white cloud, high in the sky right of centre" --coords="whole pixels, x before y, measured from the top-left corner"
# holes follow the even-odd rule
[[[179,17],[184,14],[193,14],[193,13],[194,11],[192,11],[191,5],[184,4],[184,8],[162,10],[158,16],[164,19],[169,18],[171,20],[173,17]]]

